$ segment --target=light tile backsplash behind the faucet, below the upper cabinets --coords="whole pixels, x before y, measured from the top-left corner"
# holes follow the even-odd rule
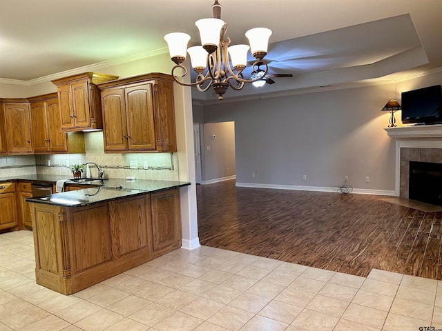
[[[105,178],[153,179],[178,181],[177,153],[125,153],[105,154],[103,132],[84,134],[85,154],[50,154],[0,157],[0,177],[12,174],[60,174],[70,176],[70,166],[75,163],[93,161],[104,170]],[[135,169],[131,169],[131,165]],[[92,177],[97,170],[90,168]],[[86,177],[86,171],[82,174]]]

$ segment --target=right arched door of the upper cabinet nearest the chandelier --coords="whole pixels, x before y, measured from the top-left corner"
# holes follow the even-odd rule
[[[124,89],[129,150],[155,150],[151,83]]]

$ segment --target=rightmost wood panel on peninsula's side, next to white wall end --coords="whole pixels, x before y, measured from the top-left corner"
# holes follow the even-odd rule
[[[173,250],[181,245],[179,189],[151,194],[153,251]]]

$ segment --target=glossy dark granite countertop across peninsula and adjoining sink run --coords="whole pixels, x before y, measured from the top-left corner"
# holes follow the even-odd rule
[[[50,177],[50,178],[49,178]],[[46,181],[56,183],[57,180],[72,179],[72,177],[59,176],[59,175],[28,175],[19,176],[19,181]],[[55,179],[56,178],[56,179]],[[54,180],[55,179],[55,180]],[[3,179],[0,179],[3,181]],[[4,180],[6,181],[6,179]],[[73,182],[75,183],[75,182]],[[69,192],[61,192],[50,194],[45,197],[32,197],[26,199],[28,202],[45,203],[50,205],[61,205],[64,207],[82,207],[85,205],[91,205],[94,203],[101,203],[105,201],[112,201],[115,199],[122,199],[124,197],[135,196],[139,194],[146,194],[149,192],[157,192],[161,190],[169,190],[172,188],[180,188],[182,186],[191,185],[186,181],[153,181],[137,179],[134,181],[126,181],[126,179],[113,178],[104,179],[101,185],[96,183],[91,187],[86,183],[84,190],[75,190]]]

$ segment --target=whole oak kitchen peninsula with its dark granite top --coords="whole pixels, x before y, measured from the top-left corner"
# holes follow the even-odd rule
[[[28,198],[39,285],[73,294],[181,246],[180,181],[106,179]]]

